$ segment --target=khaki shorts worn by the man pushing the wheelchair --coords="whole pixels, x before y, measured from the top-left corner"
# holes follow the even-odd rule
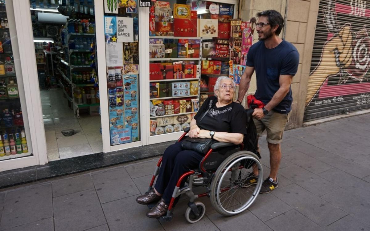
[[[290,113],[281,114],[274,111],[270,111],[262,119],[253,119],[257,135],[262,136],[262,132],[266,130],[267,132],[267,142],[277,144],[283,141],[283,132],[286,123],[289,121]]]

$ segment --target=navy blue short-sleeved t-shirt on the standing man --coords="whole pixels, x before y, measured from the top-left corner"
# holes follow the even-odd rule
[[[268,49],[264,41],[258,41],[250,47],[246,65],[254,67],[257,79],[256,99],[267,104],[280,88],[280,75],[295,75],[299,63],[297,49],[283,40],[277,47]],[[292,89],[284,99],[273,108],[274,111],[287,114],[292,109]]]

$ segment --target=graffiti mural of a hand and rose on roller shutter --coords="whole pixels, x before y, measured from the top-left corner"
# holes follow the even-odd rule
[[[321,0],[304,120],[370,108],[370,1]]]

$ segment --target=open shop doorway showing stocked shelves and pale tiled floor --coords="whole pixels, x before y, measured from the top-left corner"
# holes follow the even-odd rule
[[[30,1],[48,161],[102,152],[94,1]]]

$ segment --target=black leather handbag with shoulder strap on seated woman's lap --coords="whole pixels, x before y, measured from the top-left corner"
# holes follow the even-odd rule
[[[199,120],[199,122],[201,122],[204,116],[208,113],[209,109],[212,107],[213,105],[208,107],[207,111],[202,115],[202,118]],[[190,138],[187,136],[184,141],[182,141],[181,148],[184,150],[192,150],[201,154],[206,154],[208,150],[211,149],[211,146],[216,142],[218,141],[211,138]]]

